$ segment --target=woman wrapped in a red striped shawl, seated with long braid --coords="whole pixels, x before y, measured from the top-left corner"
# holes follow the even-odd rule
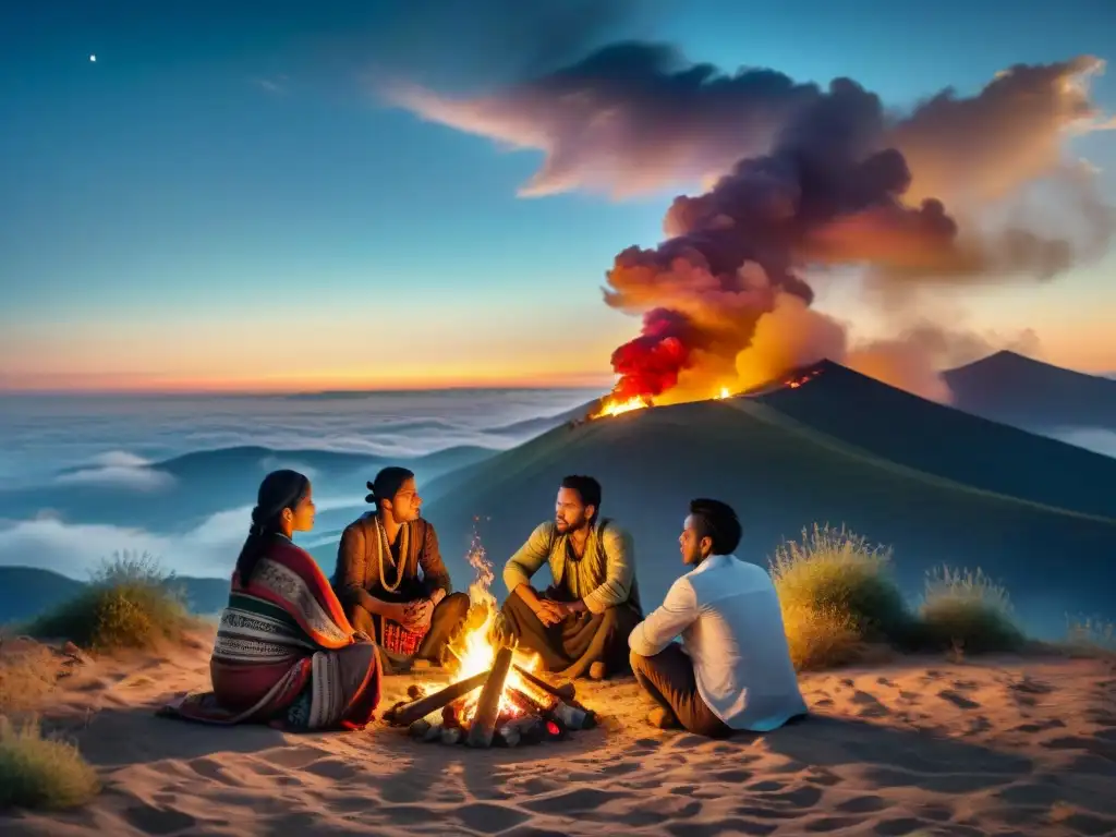
[[[211,692],[162,714],[290,730],[362,729],[379,704],[379,650],[354,629],[329,581],[291,536],[314,527],[310,482],[269,473],[232,575],[210,658]]]

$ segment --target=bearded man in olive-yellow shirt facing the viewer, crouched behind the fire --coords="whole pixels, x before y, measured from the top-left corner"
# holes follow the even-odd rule
[[[547,671],[602,680],[626,671],[627,637],[643,613],[632,536],[600,519],[600,483],[561,481],[555,519],[541,523],[503,569],[504,624]],[[547,564],[554,584],[543,593],[531,577]]]

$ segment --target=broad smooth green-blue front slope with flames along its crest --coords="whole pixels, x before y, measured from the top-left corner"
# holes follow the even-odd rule
[[[1038,632],[1060,632],[1067,610],[1110,609],[1113,521],[882,460],[750,398],[558,427],[440,478],[441,499],[425,514],[439,528],[458,585],[472,577],[463,556],[474,517],[499,570],[550,517],[558,481],[571,472],[600,479],[604,514],[634,533],[641,586],[652,604],[681,571],[676,539],[687,501],[711,496],[739,510],[747,532],[740,555],[759,564],[815,521],[844,523],[895,547],[899,580],[911,593],[921,589],[926,569],[947,562],[981,566],[1006,581]],[[330,550],[318,554],[331,567]],[[503,595],[502,586],[498,591]]]

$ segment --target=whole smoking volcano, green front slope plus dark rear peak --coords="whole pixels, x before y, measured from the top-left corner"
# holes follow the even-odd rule
[[[825,384],[830,375],[833,383]],[[1020,616],[1040,635],[1060,635],[1066,613],[1108,612],[1116,519],[1075,510],[1106,507],[1089,506],[1084,492],[1070,496],[1068,478],[1055,478],[1049,494],[1041,489],[1051,468],[1069,473],[1086,462],[1096,474],[1090,479],[1099,480],[1107,472],[1088,458],[1104,458],[953,415],[958,411],[943,413],[946,407],[874,382],[875,401],[862,410],[876,413],[875,424],[854,434],[839,424],[853,421],[865,386],[834,366],[767,400],[714,398],[557,427],[433,481],[426,493],[435,499],[424,516],[439,528],[443,555],[460,579],[472,577],[458,556],[479,518],[499,575],[531,529],[549,518],[561,477],[590,473],[604,488],[602,513],[635,538],[648,603],[661,600],[682,571],[677,536],[689,500],[715,497],[732,503],[744,523],[738,555],[760,565],[815,522],[845,525],[894,547],[898,580],[912,594],[921,591],[926,570],[945,562],[981,567],[1007,584]],[[792,411],[798,398],[816,402]],[[801,417],[811,415],[812,425]],[[945,415],[955,433],[920,439],[918,429],[930,433]],[[892,435],[878,432],[888,425]],[[979,433],[975,442],[966,427]],[[965,465],[978,446],[992,452],[999,471]],[[1009,460],[1017,460],[1010,469]]]

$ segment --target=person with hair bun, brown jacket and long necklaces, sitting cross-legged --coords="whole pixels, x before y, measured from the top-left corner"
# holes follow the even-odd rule
[[[441,664],[469,596],[452,591],[434,527],[420,517],[414,473],[385,468],[368,490],[375,510],[349,523],[337,548],[337,596],[349,622],[379,644],[389,673]]]

